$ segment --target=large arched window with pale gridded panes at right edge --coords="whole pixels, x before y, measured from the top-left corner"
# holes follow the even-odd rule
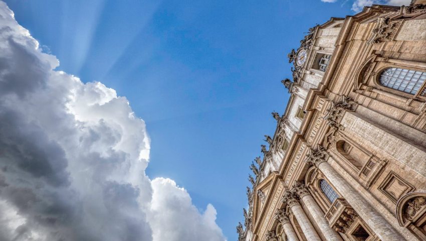
[[[380,74],[381,85],[409,94],[416,94],[424,80],[426,72],[409,69],[387,68]]]

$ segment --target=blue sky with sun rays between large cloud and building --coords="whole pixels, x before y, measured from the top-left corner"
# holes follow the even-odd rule
[[[151,138],[150,178],[211,203],[229,240],[247,206],[249,165],[289,95],[287,53],[351,1],[6,1],[83,82],[126,96]]]

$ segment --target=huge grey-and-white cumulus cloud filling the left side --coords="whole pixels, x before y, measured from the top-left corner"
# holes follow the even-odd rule
[[[0,239],[225,240],[170,179],[127,99],[54,69],[0,1]]]

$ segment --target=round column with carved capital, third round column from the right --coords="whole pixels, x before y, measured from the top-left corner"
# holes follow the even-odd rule
[[[286,192],[284,194],[283,202],[290,206],[291,211],[299,222],[306,239],[309,241],[321,241],[320,236],[318,235],[308,216],[306,216],[305,211],[303,211],[297,195],[292,192]]]

